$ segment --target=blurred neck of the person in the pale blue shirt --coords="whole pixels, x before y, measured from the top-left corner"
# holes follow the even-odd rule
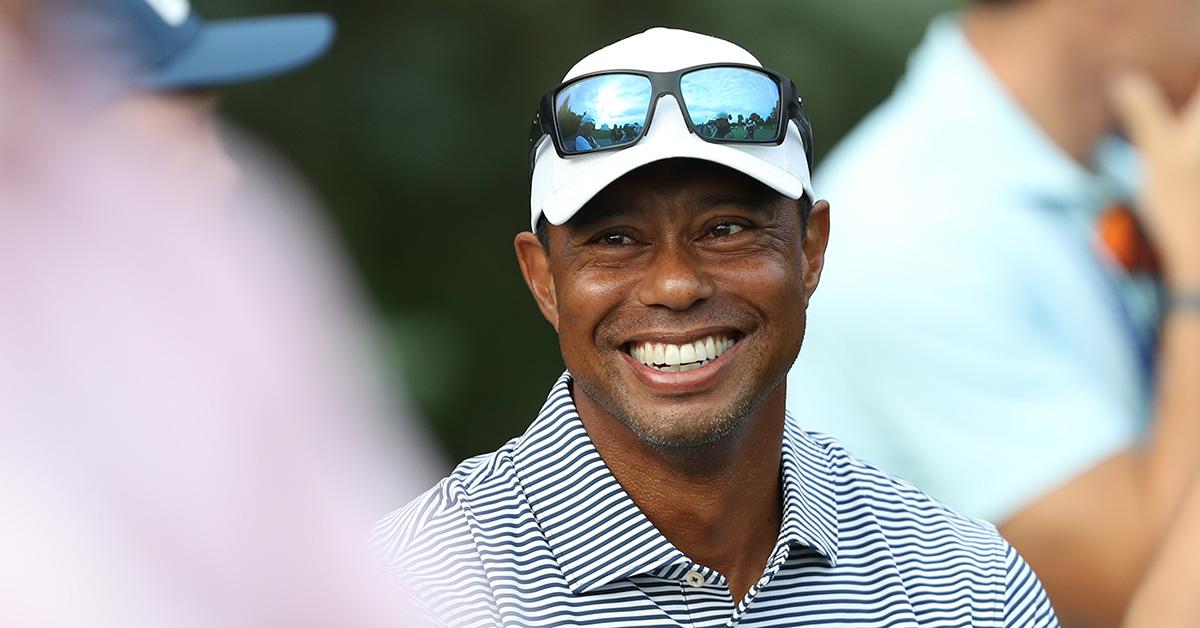
[[[962,28],[1013,98],[1043,132],[1084,166],[1114,126],[1105,76],[1072,30],[1069,2],[977,4]]]

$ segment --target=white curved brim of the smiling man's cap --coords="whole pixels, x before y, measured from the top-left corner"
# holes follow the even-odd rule
[[[563,225],[608,184],[642,166],[678,157],[710,161],[732,168],[790,198],[800,198],[805,192],[811,196],[812,191],[805,181],[752,154],[755,150],[773,149],[775,146],[734,148],[698,140],[662,144],[647,142],[611,155],[596,155],[600,157],[596,163],[586,174],[572,178],[570,185],[556,191],[541,210],[551,225]]]

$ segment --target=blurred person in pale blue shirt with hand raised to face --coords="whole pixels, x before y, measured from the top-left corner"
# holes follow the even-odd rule
[[[1186,128],[1145,177],[1126,72]],[[1121,620],[1200,462],[1198,78],[1200,2],[977,1],[817,173],[792,412],[996,522],[1068,624]]]

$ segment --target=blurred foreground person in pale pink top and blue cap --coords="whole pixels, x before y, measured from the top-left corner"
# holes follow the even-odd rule
[[[328,19],[89,4],[0,5],[0,624],[403,624],[362,531],[428,454],[295,181],[172,91]]]

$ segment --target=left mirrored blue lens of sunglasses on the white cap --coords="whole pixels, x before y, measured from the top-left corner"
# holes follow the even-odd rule
[[[650,108],[650,79],[605,74],[572,83],[554,98],[558,137],[569,155],[641,137]]]

